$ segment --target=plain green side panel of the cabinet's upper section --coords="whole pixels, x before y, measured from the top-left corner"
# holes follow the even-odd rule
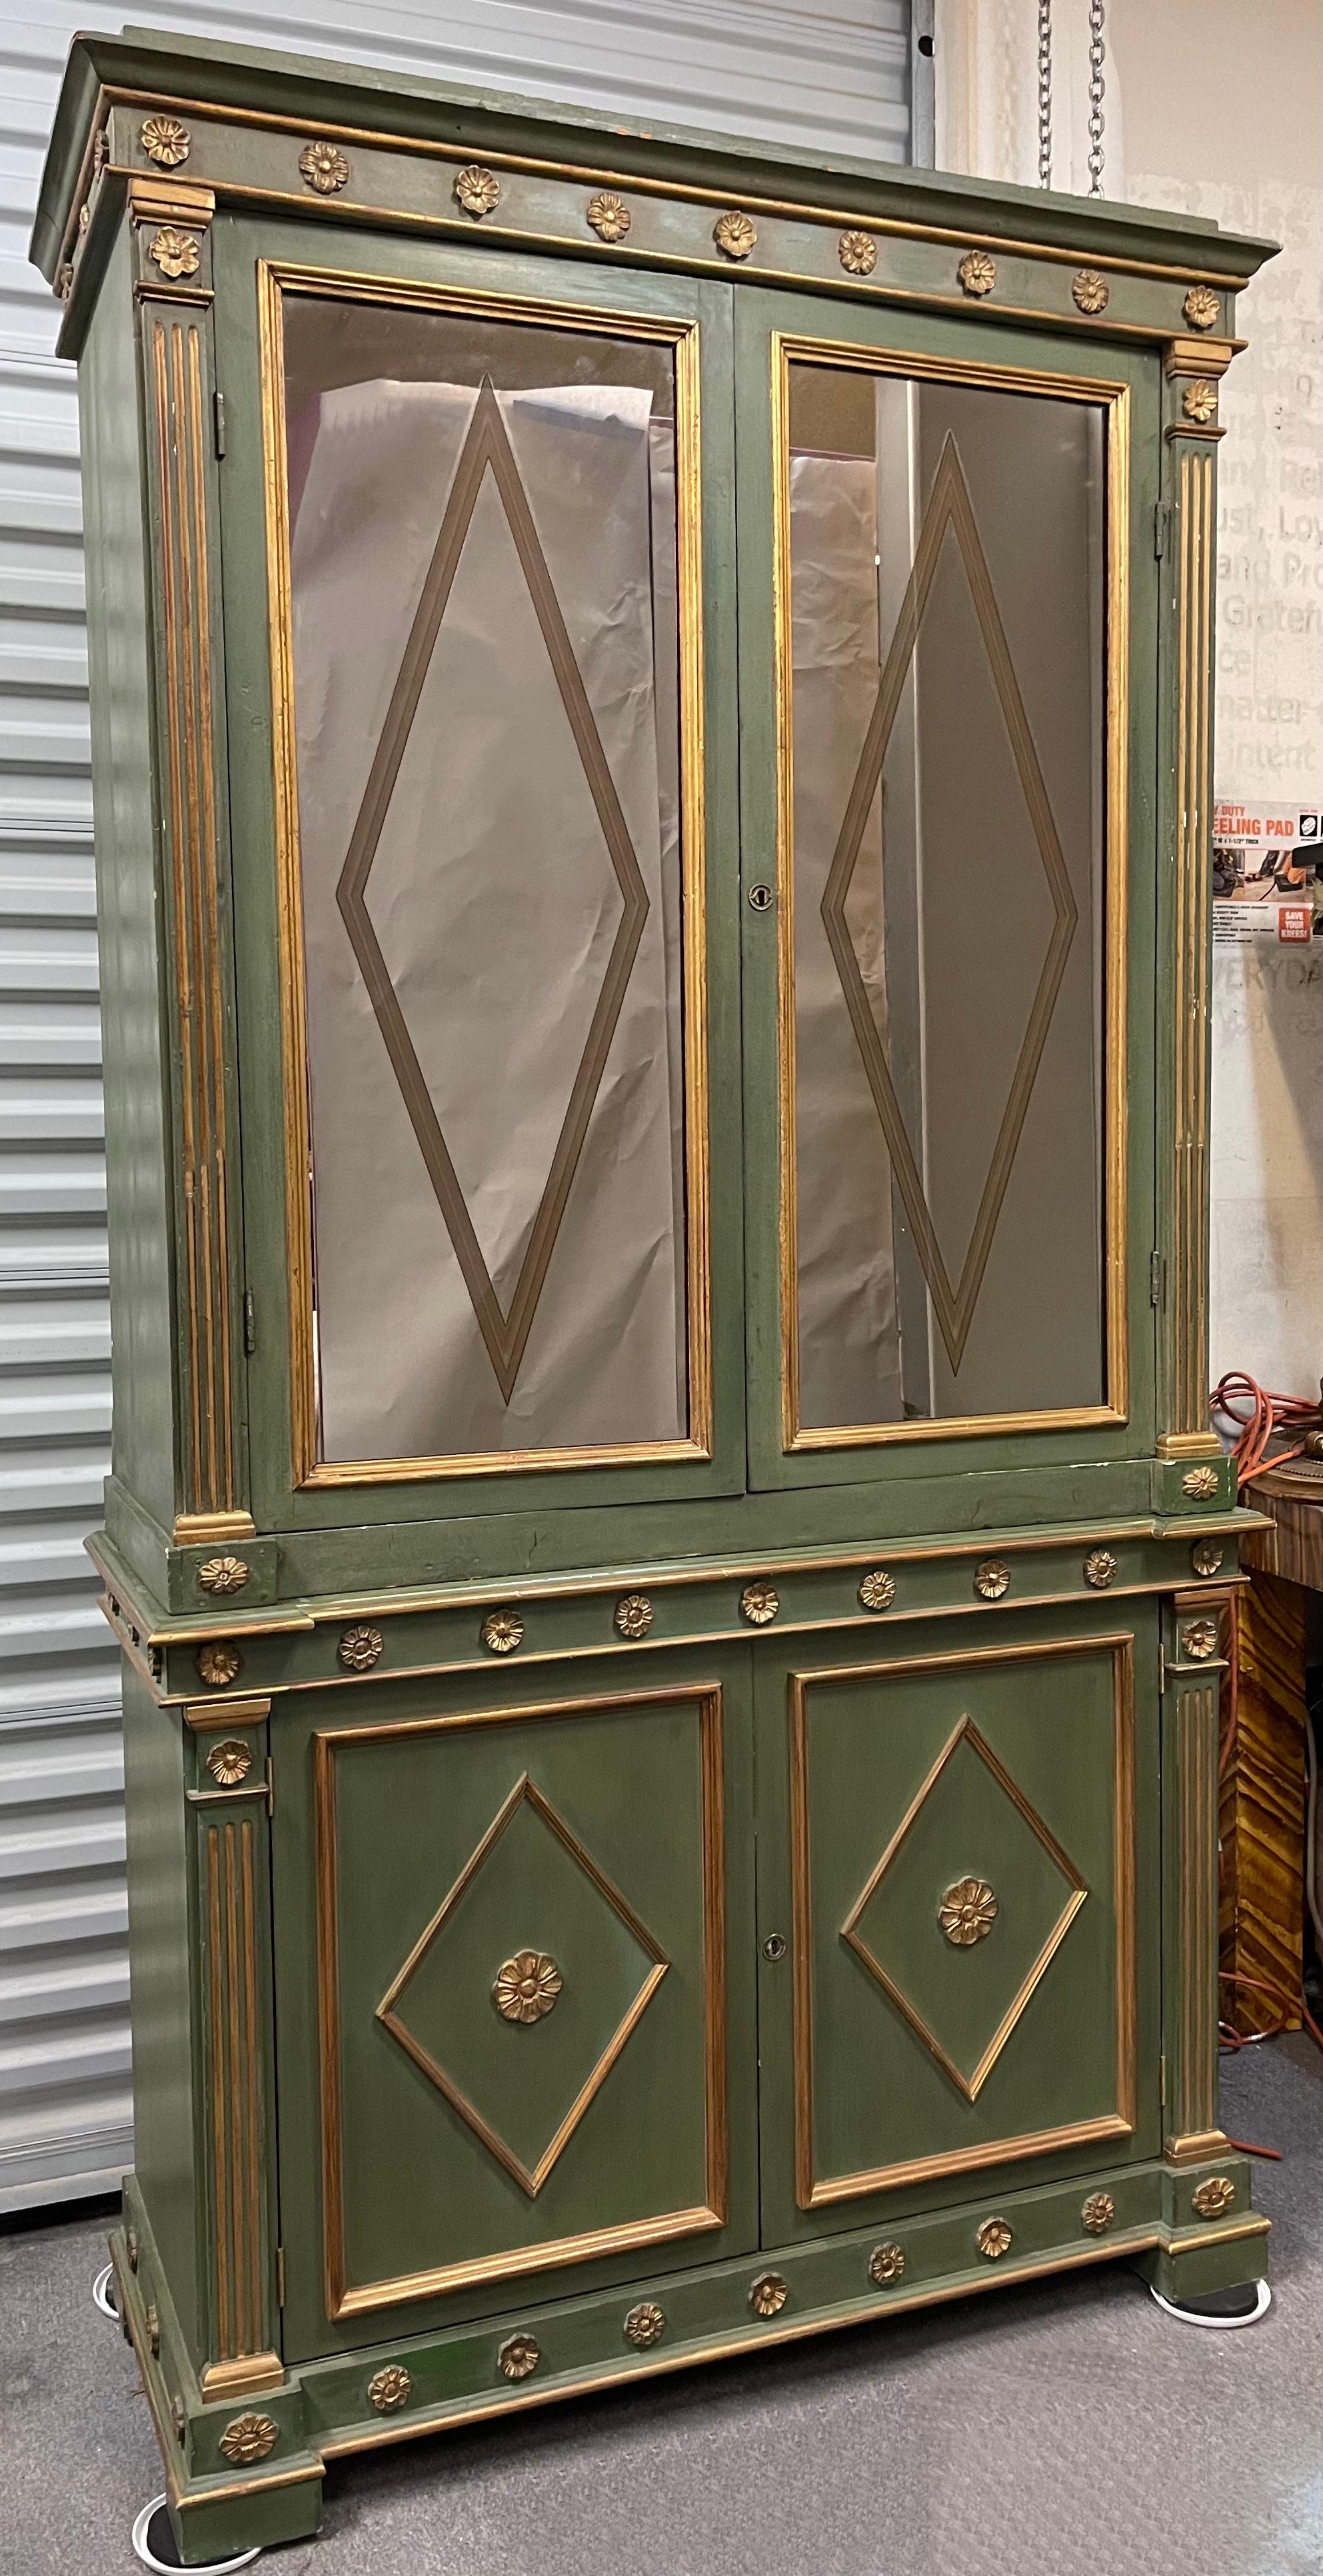
[[[80,361],[80,435],[111,1229],[111,1463],[129,1494],[170,1530],[167,1072],[144,482],[126,242],[113,252]]]

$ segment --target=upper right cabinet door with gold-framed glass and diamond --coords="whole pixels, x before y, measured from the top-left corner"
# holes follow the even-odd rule
[[[1125,358],[837,340],[770,296],[739,325],[746,866],[777,853],[744,943],[757,1479],[1122,1432]]]

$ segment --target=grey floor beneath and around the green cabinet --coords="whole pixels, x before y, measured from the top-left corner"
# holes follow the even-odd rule
[[[1228,2061],[1277,2221],[1246,2334],[1125,2269],[994,2290],[759,2362],[342,2460],[273,2576],[1318,2576],[1323,2061]],[[160,2463],[90,2306],[106,2213],[0,2233],[0,2571],[131,2576]]]

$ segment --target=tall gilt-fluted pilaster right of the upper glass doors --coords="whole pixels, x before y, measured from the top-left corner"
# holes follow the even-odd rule
[[[1169,1406],[1158,1455],[1220,1455],[1207,1419],[1207,1097],[1212,824],[1212,451],[1176,464],[1176,894]]]

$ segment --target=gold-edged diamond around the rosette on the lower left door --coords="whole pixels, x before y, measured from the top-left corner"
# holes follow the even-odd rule
[[[546,1955],[556,2009],[510,2020],[492,1981]],[[533,2200],[669,1960],[523,1772],[376,2007],[378,2022]]]

